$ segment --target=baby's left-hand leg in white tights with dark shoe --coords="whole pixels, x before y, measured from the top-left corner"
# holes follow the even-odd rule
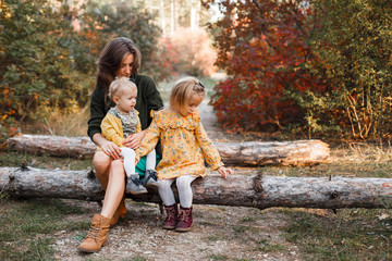
[[[139,175],[135,171],[135,151],[131,148],[122,147],[121,156],[124,158],[124,169],[127,176],[125,192],[132,195],[146,194],[147,189],[143,187]]]

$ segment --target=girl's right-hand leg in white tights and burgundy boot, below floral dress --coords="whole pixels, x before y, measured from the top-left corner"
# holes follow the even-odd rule
[[[175,225],[177,232],[188,232],[193,223],[192,217],[192,201],[193,191],[191,183],[196,179],[194,175],[183,175],[176,178],[176,187],[180,197],[180,212],[179,220]]]

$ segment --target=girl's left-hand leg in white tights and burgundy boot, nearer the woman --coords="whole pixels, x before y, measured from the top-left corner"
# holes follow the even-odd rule
[[[173,229],[176,225],[176,219],[179,214],[177,206],[175,203],[175,198],[171,185],[175,178],[171,179],[160,179],[158,181],[158,191],[161,197],[164,209],[167,211],[167,217],[162,223],[164,229]]]

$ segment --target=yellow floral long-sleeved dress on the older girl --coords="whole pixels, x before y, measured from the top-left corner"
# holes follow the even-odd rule
[[[204,177],[207,175],[204,159],[213,171],[223,165],[201,125],[197,110],[186,117],[169,109],[151,111],[151,116],[152,122],[136,150],[136,159],[154,149],[160,138],[162,160],[157,165],[159,179],[185,174]]]

